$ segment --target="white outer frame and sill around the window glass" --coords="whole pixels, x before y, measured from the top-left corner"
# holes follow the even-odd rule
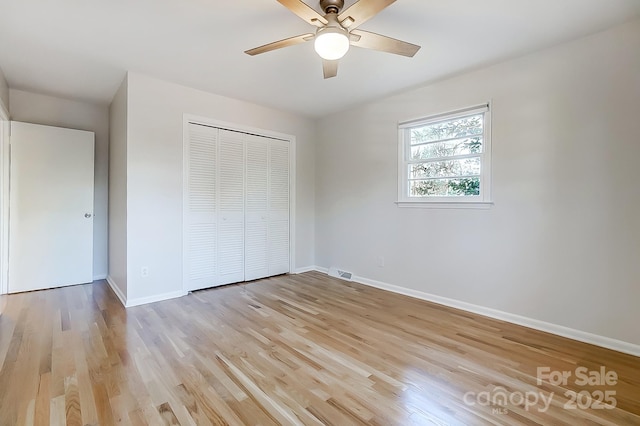
[[[453,120],[475,114],[484,114],[483,146],[480,156],[480,195],[446,197],[409,196],[409,153],[411,130],[440,121]],[[491,199],[491,104],[490,102],[442,114],[398,123],[398,207],[417,208],[489,208]]]

